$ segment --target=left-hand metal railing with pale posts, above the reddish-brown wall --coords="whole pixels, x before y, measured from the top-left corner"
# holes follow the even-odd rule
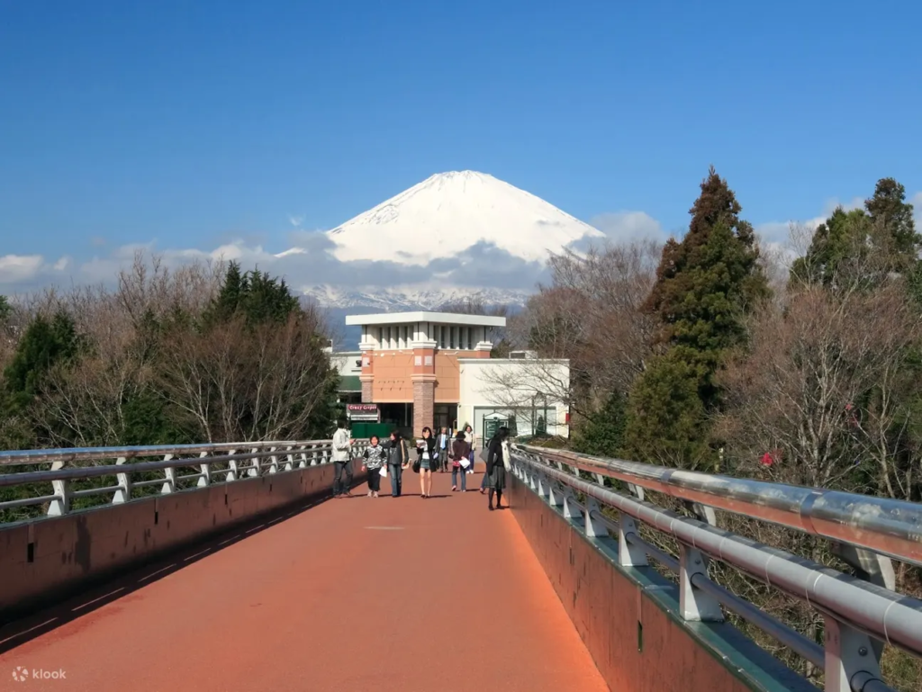
[[[353,455],[363,446],[364,440],[357,440]],[[49,516],[60,516],[79,498],[109,496],[112,504],[121,504],[152,494],[285,473],[329,463],[331,452],[331,440],[0,452],[0,491],[18,487],[22,496],[0,501],[0,518],[4,510],[37,506],[46,506]],[[48,464],[47,469],[21,470]]]

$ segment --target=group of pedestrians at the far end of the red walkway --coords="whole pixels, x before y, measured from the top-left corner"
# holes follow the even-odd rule
[[[416,459],[410,461],[407,440],[399,430],[391,433],[388,440],[372,435],[370,444],[362,454],[362,470],[368,472],[368,497],[377,498],[381,492],[381,479],[387,477],[391,485],[391,497],[403,494],[403,472],[410,465],[420,475],[420,497],[432,497],[432,474],[445,472],[451,466],[452,492],[467,492],[467,474],[474,470],[474,435],[469,425],[455,434],[451,440],[448,430],[442,428],[438,436],[428,426],[422,428],[422,437],[416,443]],[[340,420],[333,435],[333,497],[350,497],[352,487],[352,445],[354,440],[346,428],[346,421]],[[500,428],[487,446],[487,472],[480,484],[480,493],[489,490],[490,509],[502,509],[502,490],[506,486],[506,471],[510,467],[509,428]],[[460,477],[460,488],[458,479]],[[493,498],[496,498],[496,507]]]

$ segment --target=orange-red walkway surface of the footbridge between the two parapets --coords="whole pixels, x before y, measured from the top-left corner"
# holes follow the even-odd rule
[[[0,690],[607,690],[512,513],[404,478],[0,629]]]

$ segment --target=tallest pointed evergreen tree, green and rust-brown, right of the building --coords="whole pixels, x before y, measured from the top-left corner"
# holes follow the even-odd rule
[[[714,375],[745,340],[745,318],[769,296],[759,248],[741,206],[712,166],[681,241],[669,240],[645,308],[663,350],[634,382],[626,453],[697,465],[707,456],[708,417],[719,406]]]

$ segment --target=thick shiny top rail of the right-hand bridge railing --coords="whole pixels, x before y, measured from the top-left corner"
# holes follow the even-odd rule
[[[922,504],[916,502],[702,474],[528,445],[514,447],[550,462],[616,478],[672,498],[698,502],[715,510],[780,524],[922,565]]]

